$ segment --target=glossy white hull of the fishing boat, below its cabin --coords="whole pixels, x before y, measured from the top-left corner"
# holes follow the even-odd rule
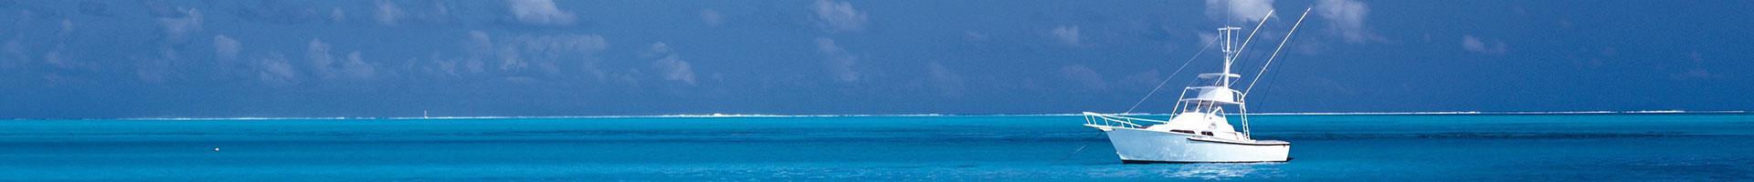
[[[1265,163],[1289,161],[1291,144],[1217,140],[1200,135],[1105,128],[1123,163]]]

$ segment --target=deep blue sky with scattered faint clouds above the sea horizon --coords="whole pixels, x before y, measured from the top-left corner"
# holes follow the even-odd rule
[[[1305,9],[1251,112],[1754,110],[1742,0],[0,0],[0,117],[1168,112]]]

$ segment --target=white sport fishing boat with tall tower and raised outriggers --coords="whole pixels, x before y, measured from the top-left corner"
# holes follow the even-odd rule
[[[1272,16],[1272,12],[1268,12],[1268,16]],[[1308,16],[1308,10],[1303,10],[1303,16]],[[1263,18],[1261,21],[1261,24],[1265,24],[1266,19]],[[1296,26],[1301,24],[1303,18],[1298,18],[1298,24],[1291,28],[1286,40],[1289,40],[1291,33],[1296,33]],[[1291,142],[1254,140],[1249,135],[1245,103],[1247,89],[1231,89],[1231,84],[1242,79],[1242,75],[1231,74],[1231,63],[1237,61],[1237,56],[1247,47],[1254,33],[1249,33],[1249,40],[1237,46],[1235,38],[1238,30],[1242,28],[1219,28],[1221,38],[1212,44],[1223,42],[1224,68],[1217,74],[1200,74],[1200,82],[1196,86],[1182,89],[1182,94],[1177,96],[1180,100],[1175,102],[1175,108],[1170,112],[1172,116],[1168,121],[1084,112],[1084,126],[1107,133],[1109,142],[1114,144],[1116,154],[1121,156],[1121,163],[1289,161]],[[1259,24],[1256,24],[1256,32],[1258,30]],[[1279,47],[1282,49],[1284,42],[1280,42]],[[1279,49],[1273,51],[1273,56],[1268,56],[1266,65],[1261,68],[1263,74],[1277,56]],[[1254,80],[1259,80],[1259,74],[1256,74],[1256,77],[1249,82],[1251,89],[1254,88]],[[1152,89],[1152,93],[1156,93],[1156,89]],[[1230,108],[1235,108],[1235,112],[1228,112]],[[1128,112],[1131,112],[1131,108]],[[1231,119],[1228,116],[1240,117],[1237,122],[1242,124],[1242,131],[1237,131],[1237,128],[1230,124]]]

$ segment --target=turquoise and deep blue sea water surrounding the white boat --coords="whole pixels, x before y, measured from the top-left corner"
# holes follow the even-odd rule
[[[0,121],[0,180],[1754,180],[1754,114],[1252,119],[1296,159],[1121,164],[1077,116],[88,119]]]

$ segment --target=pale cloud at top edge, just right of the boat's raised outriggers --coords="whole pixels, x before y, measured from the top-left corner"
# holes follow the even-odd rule
[[[1316,16],[1328,19],[1331,32],[1345,37],[1345,42],[1361,44],[1368,40],[1379,40],[1375,33],[1365,28],[1365,14],[1370,14],[1370,7],[1358,0],[1321,0],[1316,2]]]

